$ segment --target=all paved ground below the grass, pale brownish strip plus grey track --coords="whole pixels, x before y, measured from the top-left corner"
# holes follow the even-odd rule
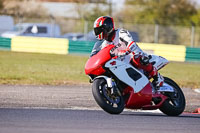
[[[183,88],[186,110],[200,94]],[[124,111],[110,115],[94,101],[90,85],[0,86],[0,133],[199,133],[200,114],[169,117]]]

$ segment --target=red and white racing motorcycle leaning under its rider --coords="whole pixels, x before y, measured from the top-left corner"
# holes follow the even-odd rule
[[[88,59],[85,73],[92,83],[92,92],[97,104],[110,114],[119,114],[124,108],[160,109],[169,116],[180,115],[185,109],[185,97],[181,88],[170,78],[158,90],[143,72],[130,64],[132,55],[112,57],[108,45]],[[161,69],[168,61],[152,55],[151,63]]]

